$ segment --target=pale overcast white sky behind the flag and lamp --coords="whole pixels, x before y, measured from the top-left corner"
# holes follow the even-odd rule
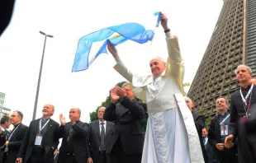
[[[126,22],[138,22],[154,30],[154,12],[164,12],[179,44],[185,63],[184,82],[192,82],[220,14],[221,0],[17,0],[12,22],[0,38],[0,91],[6,93],[4,106],[21,110],[23,123],[31,122],[40,70],[44,36],[47,40],[36,118],[43,105],[55,105],[68,119],[69,109],[82,109],[81,119],[97,108],[108,91],[124,81],[112,67],[115,60],[100,55],[84,72],[71,72],[78,40],[95,30]],[[96,48],[95,48],[96,47]],[[94,46],[92,52],[97,49]],[[117,46],[121,59],[133,72],[149,72],[149,58],[167,57],[164,32],[156,30],[153,43],[130,41]]]

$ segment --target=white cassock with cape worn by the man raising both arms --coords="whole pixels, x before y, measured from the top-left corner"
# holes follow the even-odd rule
[[[149,119],[142,163],[203,163],[201,145],[191,111],[183,98],[183,63],[178,38],[166,34],[168,61],[160,77],[132,74],[125,65],[114,67],[135,86],[147,103]]]

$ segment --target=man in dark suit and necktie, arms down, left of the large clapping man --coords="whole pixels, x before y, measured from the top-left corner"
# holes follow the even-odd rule
[[[111,163],[110,153],[106,153],[111,147],[111,135],[114,132],[114,123],[103,119],[105,107],[97,111],[97,121],[89,123],[91,157],[88,163]]]

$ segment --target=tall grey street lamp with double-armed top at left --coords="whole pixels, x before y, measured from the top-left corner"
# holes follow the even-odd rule
[[[45,32],[39,31],[40,34],[45,35],[45,44],[46,44],[46,39],[47,37],[53,38],[53,35],[46,35]],[[45,57],[45,44],[44,44],[44,49],[43,49],[43,54],[41,58],[41,64],[40,64],[40,72],[39,72],[39,77],[38,77],[38,82],[37,82],[37,88],[36,88],[36,100],[35,100],[35,106],[34,106],[34,112],[33,112],[33,119],[36,119],[36,109],[37,109],[37,101],[38,101],[38,95],[39,95],[39,90],[40,90],[40,80],[41,80],[41,74],[42,74],[42,68],[43,68],[43,63],[44,63],[44,57]]]

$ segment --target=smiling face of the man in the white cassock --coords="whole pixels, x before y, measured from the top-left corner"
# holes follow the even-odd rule
[[[153,77],[159,77],[159,75],[164,72],[165,69],[165,63],[160,58],[151,59],[149,66],[151,68]]]

